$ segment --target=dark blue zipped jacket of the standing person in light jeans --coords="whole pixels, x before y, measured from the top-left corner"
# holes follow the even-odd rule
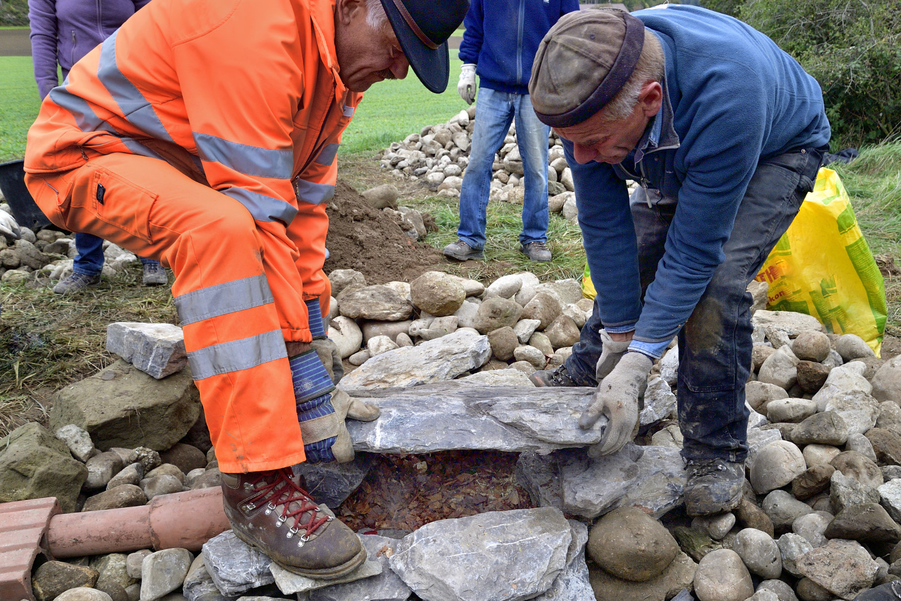
[[[479,85],[528,94],[538,45],[561,15],[573,11],[578,0],[472,0],[460,60],[478,65]]]

